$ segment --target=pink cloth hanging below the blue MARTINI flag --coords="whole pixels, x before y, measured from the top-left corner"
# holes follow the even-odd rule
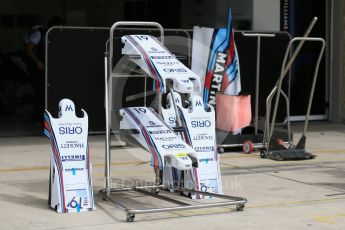
[[[216,95],[217,128],[226,132],[236,132],[250,125],[252,110],[250,95]]]

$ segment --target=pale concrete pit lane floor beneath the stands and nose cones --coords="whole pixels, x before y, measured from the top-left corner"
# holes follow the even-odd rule
[[[301,126],[294,127],[295,140]],[[345,126],[311,124],[307,161],[277,162],[227,152],[221,155],[224,193],[243,196],[243,212],[234,207],[125,215],[103,201],[104,137],[90,137],[97,210],[57,214],[48,208],[49,153],[43,137],[0,139],[0,229],[345,229]],[[114,183],[154,178],[150,156],[138,149],[113,151]],[[165,205],[139,194],[119,194],[129,204]],[[181,198],[185,199],[185,198]]]

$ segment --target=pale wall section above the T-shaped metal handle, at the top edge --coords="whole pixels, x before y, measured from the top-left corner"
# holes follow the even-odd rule
[[[280,30],[280,0],[253,0],[253,30]]]

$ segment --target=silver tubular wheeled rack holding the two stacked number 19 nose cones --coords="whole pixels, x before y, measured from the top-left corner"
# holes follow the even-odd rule
[[[222,207],[222,206],[229,206],[235,205],[237,211],[242,211],[247,200],[242,197],[233,197],[228,195],[221,195],[221,194],[214,194],[196,190],[189,190],[183,188],[177,188],[176,192],[178,193],[197,193],[205,196],[217,197],[224,199],[226,201],[223,202],[215,202],[215,203],[205,203],[205,204],[188,204],[185,202],[181,202],[175,199],[172,199],[167,196],[159,195],[160,189],[168,189],[164,185],[156,184],[150,186],[141,186],[141,187],[124,187],[124,188],[111,188],[111,177],[110,177],[110,150],[113,149],[113,146],[110,146],[110,103],[109,103],[109,85],[108,81],[114,76],[112,71],[113,66],[113,42],[114,42],[114,31],[118,27],[124,26],[138,26],[138,27],[156,27],[160,31],[160,40],[164,43],[164,30],[163,27],[156,23],[156,22],[116,22],[112,25],[110,29],[110,38],[106,44],[106,52],[104,57],[104,68],[105,68],[105,120],[106,120],[106,135],[105,135],[105,188],[100,190],[100,194],[102,195],[103,199],[109,201],[114,206],[122,209],[126,213],[126,221],[133,222],[135,218],[135,214],[144,214],[144,213],[155,213],[155,212],[170,212],[170,211],[178,211],[178,210],[190,210],[190,209],[200,209],[200,208],[213,208],[213,207]],[[134,57],[136,58],[136,57]],[[162,102],[162,93],[157,92],[157,109],[158,113],[161,114],[161,102]],[[156,179],[159,179],[159,173],[156,172]],[[156,180],[158,181],[158,180]],[[151,191],[149,191],[151,190]],[[150,195],[154,198],[158,198],[161,200],[165,200],[171,203],[175,203],[178,206],[175,207],[163,207],[163,208],[145,208],[145,209],[130,209],[127,208],[125,205],[121,204],[119,201],[111,198],[111,193],[116,192],[125,192],[125,191],[135,191],[145,195]]]

